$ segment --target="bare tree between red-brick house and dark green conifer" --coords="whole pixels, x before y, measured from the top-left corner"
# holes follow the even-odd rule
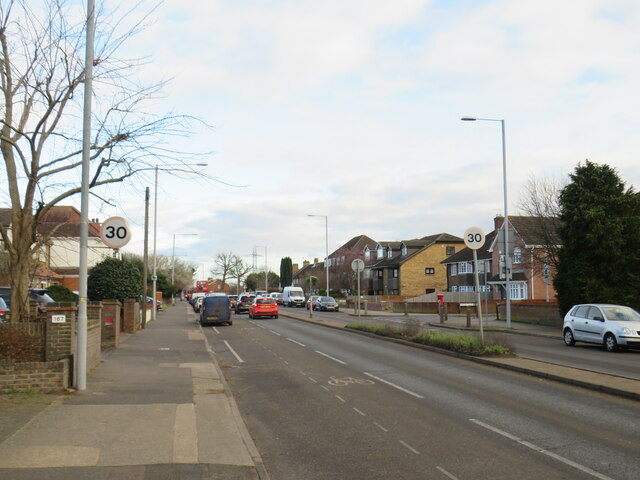
[[[551,177],[530,177],[525,185],[518,207],[525,215],[537,219],[534,232],[542,239],[538,248],[531,250],[536,265],[548,263],[555,269],[558,265],[558,225],[560,217],[560,191],[563,184]]]

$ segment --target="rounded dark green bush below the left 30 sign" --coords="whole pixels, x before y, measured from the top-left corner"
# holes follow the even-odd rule
[[[142,274],[134,262],[107,258],[89,272],[87,294],[90,300],[138,299],[142,295]]]

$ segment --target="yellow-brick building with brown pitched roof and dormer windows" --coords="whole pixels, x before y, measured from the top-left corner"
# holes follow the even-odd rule
[[[442,261],[464,245],[460,237],[438,233],[401,242],[379,242],[371,272],[371,295],[415,297],[446,290],[447,268]],[[373,251],[365,248],[365,262]]]

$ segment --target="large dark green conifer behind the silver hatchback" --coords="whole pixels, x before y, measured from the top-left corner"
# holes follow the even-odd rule
[[[560,193],[561,247],[554,278],[564,315],[578,303],[640,307],[640,198],[615,169],[579,164]]]

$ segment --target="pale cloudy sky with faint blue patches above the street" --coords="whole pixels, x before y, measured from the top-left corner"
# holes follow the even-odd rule
[[[178,144],[219,181],[158,179],[157,251],[175,238],[198,277],[219,252],[262,266],[266,251],[276,273],[322,260],[311,214],[329,252],[488,233],[500,123],[463,116],[505,120],[510,215],[531,178],[566,182],[585,159],[640,183],[635,0],[167,0],[150,18],[123,56],[148,57],[142,82],[171,79],[154,109],[210,125]],[[112,193],[90,217],[127,218],[124,250],[142,253],[143,197]]]

